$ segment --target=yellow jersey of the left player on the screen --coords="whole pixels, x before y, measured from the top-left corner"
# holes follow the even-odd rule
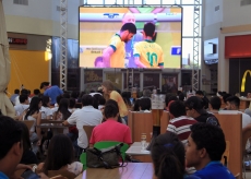
[[[115,51],[110,57],[110,68],[124,68],[125,50],[120,35],[116,34],[111,37],[109,46]]]

